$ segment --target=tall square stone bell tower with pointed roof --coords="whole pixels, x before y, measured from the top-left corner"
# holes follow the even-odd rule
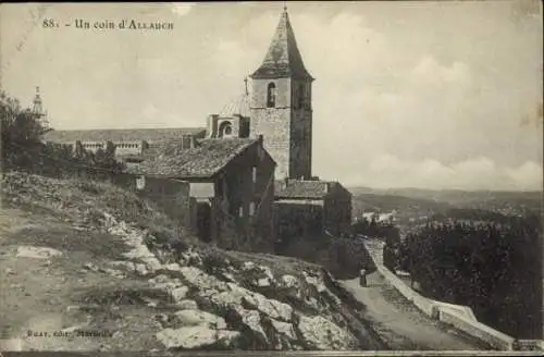
[[[284,8],[260,67],[251,74],[250,133],[263,135],[275,178],[311,177],[311,84]]]

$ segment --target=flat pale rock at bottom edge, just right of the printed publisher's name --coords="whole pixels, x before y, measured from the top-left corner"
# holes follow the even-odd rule
[[[203,348],[219,345],[232,347],[240,337],[238,331],[213,330],[207,327],[187,327],[181,329],[164,329],[157,333],[159,340],[166,348]]]

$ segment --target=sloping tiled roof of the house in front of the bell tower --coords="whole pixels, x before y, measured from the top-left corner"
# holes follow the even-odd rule
[[[202,139],[197,147],[190,149],[182,148],[180,141],[169,141],[157,149],[156,157],[144,160],[138,168],[129,169],[129,172],[171,178],[211,177],[258,140]]]

